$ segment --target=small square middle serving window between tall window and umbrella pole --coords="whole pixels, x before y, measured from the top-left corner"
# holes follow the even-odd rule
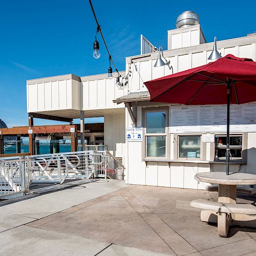
[[[201,159],[201,135],[179,135],[178,158]]]

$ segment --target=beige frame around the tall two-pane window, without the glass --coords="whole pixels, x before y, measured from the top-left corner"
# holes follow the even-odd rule
[[[165,133],[147,133],[146,132],[146,114],[148,112],[165,112]],[[169,137],[169,108],[167,106],[156,108],[143,109],[143,145],[142,145],[142,159],[143,160],[168,160],[170,156],[170,137]],[[163,136],[165,137],[165,157],[150,157],[147,156],[147,137]]]

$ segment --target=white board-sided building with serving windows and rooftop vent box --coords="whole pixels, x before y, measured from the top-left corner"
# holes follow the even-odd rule
[[[126,57],[121,75],[132,73],[124,90],[115,86],[117,74],[112,80],[108,74],[28,80],[27,111],[69,118],[80,118],[81,112],[85,117],[103,116],[104,144],[122,158],[126,183],[204,189],[207,184],[196,181],[195,174],[225,170],[224,113],[219,113],[220,125],[214,125],[212,118],[218,118],[220,108],[207,106],[212,118],[202,125],[200,106],[184,110],[179,105],[149,102],[143,82],[205,65],[213,43],[206,43],[200,24],[169,30],[168,49],[163,54],[170,65],[155,68],[158,52],[142,41],[142,50],[148,53]],[[222,56],[233,54],[255,61],[256,35],[218,41],[218,50]],[[186,118],[191,112],[198,116],[193,125]],[[233,116],[230,171],[256,174],[256,107],[239,105],[238,112],[249,118]],[[126,141],[127,127],[142,127],[142,141]]]

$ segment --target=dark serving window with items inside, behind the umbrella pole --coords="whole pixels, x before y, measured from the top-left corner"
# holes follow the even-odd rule
[[[243,136],[230,135],[230,153],[231,160],[241,160],[242,159],[242,145]],[[227,149],[227,137],[226,135],[216,135],[215,136],[215,160],[226,160],[226,149]]]

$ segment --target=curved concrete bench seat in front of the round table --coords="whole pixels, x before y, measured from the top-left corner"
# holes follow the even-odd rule
[[[228,204],[197,199],[190,203],[190,206],[226,214],[256,215],[256,206],[252,204]]]

